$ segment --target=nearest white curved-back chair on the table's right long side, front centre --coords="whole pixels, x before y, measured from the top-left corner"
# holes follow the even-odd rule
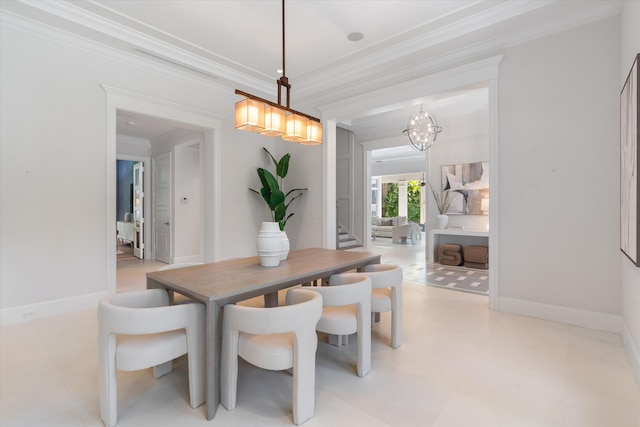
[[[290,289],[286,305],[223,309],[220,402],[235,409],[238,356],[274,371],[293,368],[293,422],[304,423],[315,412],[316,323],[322,297],[308,289]]]

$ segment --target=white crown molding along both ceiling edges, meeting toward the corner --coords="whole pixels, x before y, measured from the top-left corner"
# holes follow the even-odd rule
[[[143,34],[117,22],[102,18],[68,1],[20,2],[24,8],[33,8],[41,14],[49,14],[81,26],[84,31],[93,31],[128,44],[130,49],[110,47],[88,36],[73,34],[63,29],[37,22],[21,15],[12,15],[2,10],[2,22],[36,33],[47,39],[55,39],[70,46],[80,47],[94,54],[133,64],[163,75],[206,86],[231,97],[229,88],[234,85],[243,90],[271,94],[273,84],[255,75],[242,73],[219,64],[212,59]],[[379,88],[419,79],[446,69],[455,68],[477,58],[499,54],[502,49],[527,41],[584,25],[599,19],[619,14],[621,1],[611,0],[575,2],[541,0],[509,1],[499,3],[487,10],[453,21],[442,28],[428,31],[416,38],[371,50],[365,57],[334,62],[323,70],[296,78],[295,103],[300,110],[319,111],[317,105],[327,105],[340,99],[362,95]],[[473,12],[473,11],[472,11]],[[526,13],[552,15],[544,25],[511,30],[496,37],[473,44],[464,44],[463,36],[473,34],[507,22],[510,18]],[[156,30],[158,31],[158,30]],[[468,37],[467,37],[468,38]],[[176,39],[177,40],[177,39]],[[457,40],[457,41],[456,41]],[[180,40],[182,43],[187,43]],[[212,52],[200,49],[209,56],[221,58]],[[437,50],[438,52],[434,52]],[[241,64],[236,64],[242,68]],[[182,68],[180,68],[182,67]]]

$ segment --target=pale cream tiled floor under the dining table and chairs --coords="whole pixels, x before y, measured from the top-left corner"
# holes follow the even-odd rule
[[[420,245],[373,250],[405,266],[424,259]],[[124,266],[119,290],[144,288],[144,272],[158,265]],[[354,373],[355,340],[319,344],[316,414],[305,426],[640,426],[640,391],[619,336],[493,312],[487,297],[410,278],[403,344],[389,347],[383,314],[367,377]],[[2,327],[0,425],[102,425],[96,331],[95,310]],[[220,407],[210,422],[204,406],[189,407],[184,359],[158,380],[150,370],[118,380],[122,427],[292,425],[284,372],[241,365],[237,409]]]

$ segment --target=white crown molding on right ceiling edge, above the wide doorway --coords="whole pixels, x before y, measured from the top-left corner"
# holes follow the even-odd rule
[[[495,55],[502,49],[546,37],[561,31],[606,19],[620,13],[621,2],[584,2],[580,5],[558,1],[507,2],[492,10],[484,11],[463,19],[442,29],[425,33],[416,39],[400,43],[394,47],[380,49],[366,59],[357,62],[338,64],[330,70],[297,79],[300,90],[296,99],[300,104],[313,99],[317,104],[326,104],[345,96],[355,96],[380,87],[397,84],[419,78],[425,74],[437,72],[475,58]],[[590,7],[582,7],[589,3]],[[529,29],[518,29],[493,39],[466,45],[452,45],[444,54],[429,55],[428,49],[443,45],[455,38],[468,35],[491,25],[503,22],[519,14],[535,11],[543,5],[556,5],[556,8],[572,8],[570,11],[557,11],[557,15],[545,25]],[[571,12],[571,13],[569,13]],[[423,51],[421,57],[418,52]],[[408,63],[408,65],[404,65]],[[383,71],[386,70],[386,71]],[[327,91],[327,87],[331,91]]]

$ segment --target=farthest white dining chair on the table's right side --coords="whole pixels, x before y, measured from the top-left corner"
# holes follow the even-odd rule
[[[371,279],[371,322],[378,313],[391,312],[391,347],[402,344],[402,268],[393,264],[369,264],[358,274]]]

